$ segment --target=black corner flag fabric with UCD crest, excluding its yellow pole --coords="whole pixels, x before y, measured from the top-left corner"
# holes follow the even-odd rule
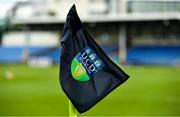
[[[79,113],[89,110],[129,78],[84,28],[75,5],[67,15],[61,46],[60,84]]]

